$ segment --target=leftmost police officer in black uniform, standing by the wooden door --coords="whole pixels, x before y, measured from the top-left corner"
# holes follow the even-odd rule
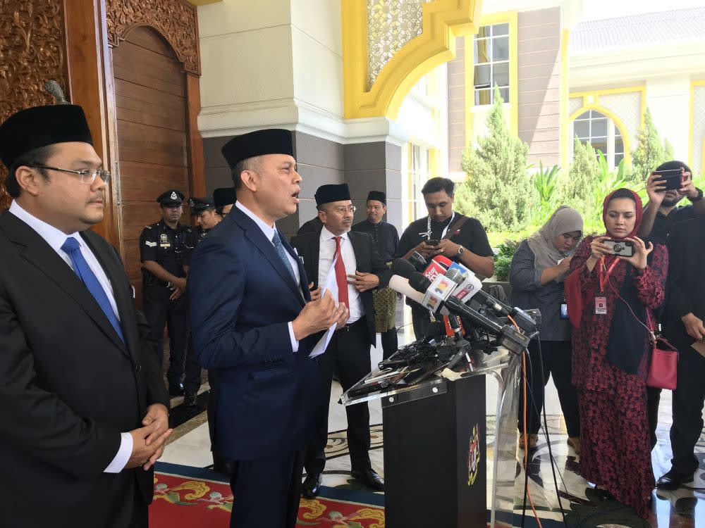
[[[140,234],[142,260],[142,302],[147,322],[155,340],[161,343],[166,324],[169,334],[169,370],[166,379],[169,394],[183,394],[186,341],[188,337],[186,271],[183,268],[185,241],[191,232],[179,219],[183,213],[183,193],[177,189],[164,191],[157,198],[161,220],[145,226]],[[158,347],[159,364],[164,348]]]

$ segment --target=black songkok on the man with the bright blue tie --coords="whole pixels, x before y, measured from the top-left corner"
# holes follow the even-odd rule
[[[9,169],[33,149],[68,142],[93,144],[83,108],[75,104],[25,108],[0,125],[0,160]]]

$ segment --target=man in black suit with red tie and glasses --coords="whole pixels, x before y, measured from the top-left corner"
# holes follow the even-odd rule
[[[317,496],[321,487],[321,473],[326,465],[324,449],[328,441],[328,403],[331,399],[333,371],[338,372],[343,390],[359,382],[371,369],[369,346],[376,342],[372,290],[388,284],[391,272],[374,249],[374,241],[367,233],[350,231],[355,206],[350,201],[347,184],[322,185],[316,191],[316,204],[322,222],[320,232],[294,237],[292,246],[303,259],[306,276],[320,291],[333,261],[335,261],[338,302],[350,310],[348,324],[333,334],[326,352],[319,356],[325,412],[322,422],[306,450],[304,467],[306,479],[302,494]],[[337,258],[336,258],[337,257]],[[348,415],[348,446],[353,477],[369,488],[384,489],[384,481],[372,470],[369,461],[369,408],[357,403],[345,408]]]

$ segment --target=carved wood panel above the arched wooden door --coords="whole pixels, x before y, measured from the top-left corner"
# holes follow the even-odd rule
[[[201,74],[196,6],[182,0],[106,0],[108,42],[118,46],[133,27],[158,30],[190,73]]]

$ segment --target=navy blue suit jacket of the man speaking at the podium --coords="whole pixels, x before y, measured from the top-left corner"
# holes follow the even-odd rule
[[[320,382],[318,362],[308,356],[319,336],[292,352],[288,322],[310,299],[301,265],[299,275],[303,294],[271,241],[236,206],[191,258],[191,329],[199,362],[218,372],[216,445],[228,460],[281,455],[311,439]]]

